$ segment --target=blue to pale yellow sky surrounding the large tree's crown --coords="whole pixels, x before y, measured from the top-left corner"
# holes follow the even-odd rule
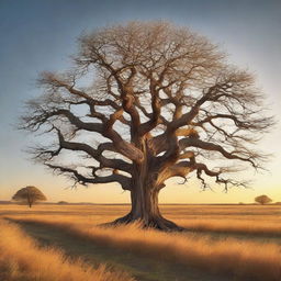
[[[201,192],[196,181],[170,182],[164,203],[252,202],[259,194],[281,201],[281,1],[277,0],[1,0],[0,1],[0,201],[25,186],[38,187],[49,201],[123,203],[128,192],[116,184],[70,186],[34,165],[23,150],[34,136],[14,128],[23,102],[40,94],[35,79],[42,70],[65,70],[77,50],[77,37],[93,29],[131,20],[168,20],[207,36],[229,54],[231,61],[255,72],[267,104],[279,122],[260,143],[271,153],[268,172],[249,170],[251,189],[223,188]]]

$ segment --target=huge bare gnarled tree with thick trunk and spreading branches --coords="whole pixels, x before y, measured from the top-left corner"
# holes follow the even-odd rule
[[[227,189],[244,184],[229,178],[239,162],[260,167],[252,144],[272,124],[263,97],[205,37],[130,22],[82,35],[79,47],[69,71],[42,74],[44,94],[27,102],[21,127],[55,136],[33,149],[50,169],[130,191],[132,210],[116,223],[177,228],[158,209],[167,179],[194,172],[203,188],[213,178]]]

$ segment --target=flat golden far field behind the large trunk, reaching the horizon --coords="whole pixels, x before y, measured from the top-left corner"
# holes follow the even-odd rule
[[[98,225],[128,212],[128,205],[0,205],[0,215]],[[195,232],[276,235],[281,237],[281,206],[161,205],[162,214]]]

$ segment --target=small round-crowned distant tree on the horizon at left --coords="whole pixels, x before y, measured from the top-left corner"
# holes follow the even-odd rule
[[[12,196],[14,201],[26,202],[30,207],[37,201],[46,201],[46,196],[35,187],[26,187],[16,191]]]

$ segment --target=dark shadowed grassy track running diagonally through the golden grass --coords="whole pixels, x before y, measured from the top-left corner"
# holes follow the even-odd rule
[[[55,246],[63,249],[70,257],[82,257],[90,265],[106,263],[113,269],[127,271],[139,281],[220,281],[225,280],[217,276],[210,276],[191,267],[157,260],[130,250],[113,247],[106,244],[77,237],[61,228],[50,227],[37,223],[18,223],[33,238],[42,245]]]

